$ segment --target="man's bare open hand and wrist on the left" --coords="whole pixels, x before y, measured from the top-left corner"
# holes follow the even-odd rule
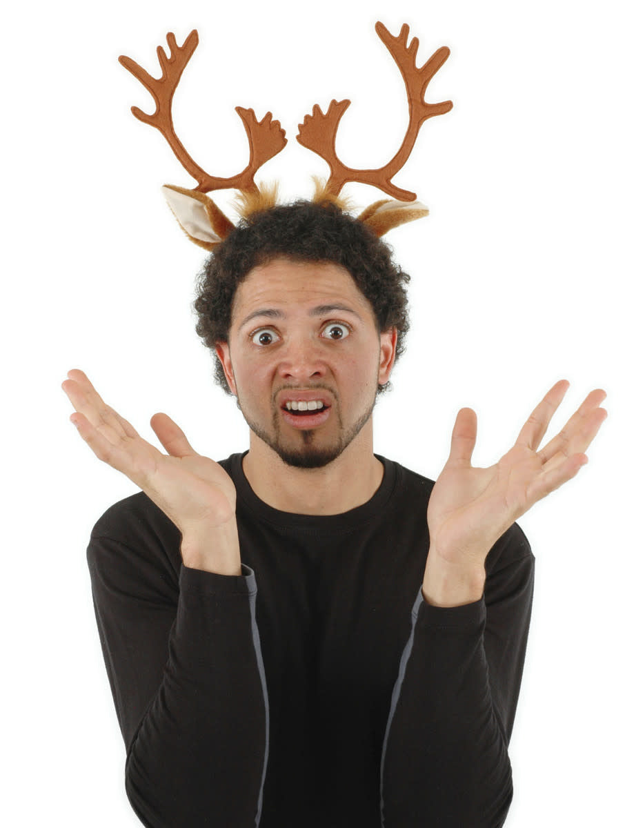
[[[79,368],[71,368],[61,388],[75,407],[70,421],[99,460],[143,489],[181,531],[182,553],[187,548],[195,561],[190,566],[241,574],[236,489],[223,467],[197,454],[176,422],[157,413],[150,424],[168,452],[161,454],[104,403]],[[218,567],[210,568],[215,548]]]

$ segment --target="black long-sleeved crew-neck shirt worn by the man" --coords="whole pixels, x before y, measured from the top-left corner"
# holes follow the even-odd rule
[[[434,481],[375,455],[382,483],[335,515],[272,508],[243,474],[242,575],[184,566],[147,494],[115,503],[87,557],[127,751],[151,828],[496,828],[532,609],[517,523],[484,595],[422,595]]]

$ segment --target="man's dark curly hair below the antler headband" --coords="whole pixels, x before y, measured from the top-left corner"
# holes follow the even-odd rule
[[[345,267],[373,306],[378,335],[397,328],[397,363],[409,329],[404,283],[411,277],[393,262],[388,244],[340,205],[296,200],[241,219],[198,274],[192,305],[198,315],[196,333],[214,354],[214,382],[224,392],[232,394],[214,347],[228,342],[234,295],[253,267],[278,257]],[[390,388],[390,382],[378,384],[378,394]]]

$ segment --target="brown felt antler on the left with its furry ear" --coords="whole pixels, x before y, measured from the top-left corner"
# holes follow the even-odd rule
[[[271,112],[268,112],[262,121],[257,121],[253,109],[236,107],[248,135],[248,166],[238,175],[230,178],[211,176],[210,173],[202,169],[185,150],[185,147],[176,136],[174,124],[172,123],[172,98],[181,74],[199,43],[199,36],[196,29],[193,29],[185,39],[183,46],[176,45],[176,38],[172,32],[168,32],[166,40],[170,47],[170,57],[166,56],[162,46],[157,46],[161,78],[153,78],[152,75],[149,75],[146,70],[126,55],[121,55],[119,62],[141,81],[155,99],[156,109],[152,115],[142,112],[141,109],[135,106],[131,108],[132,114],[142,123],[150,124],[150,126],[156,127],[161,132],[185,170],[198,183],[194,190],[166,185],[164,193],[168,203],[173,211],[178,210],[177,219],[191,240],[200,244],[201,247],[211,249],[221,239],[225,238],[230,230],[234,229],[234,224],[211,199],[203,194],[209,193],[211,190],[234,188],[241,190],[245,195],[259,195],[260,191],[254,183],[254,175],[266,161],[281,152],[287,144],[287,138],[285,137],[285,131],[281,129],[280,122],[272,121]],[[166,189],[172,190],[172,193],[166,193]],[[191,203],[192,200],[195,201],[194,204]],[[183,219],[184,207],[186,214],[190,212],[190,216],[185,219]],[[205,224],[205,214],[202,214],[202,211],[207,214],[213,233],[209,233],[207,228],[200,226],[201,220]],[[193,236],[193,231],[197,235]]]

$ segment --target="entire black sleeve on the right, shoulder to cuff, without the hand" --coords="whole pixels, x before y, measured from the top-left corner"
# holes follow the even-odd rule
[[[383,828],[503,826],[534,556],[516,523],[495,546],[479,600],[434,606],[418,592],[384,741]]]

